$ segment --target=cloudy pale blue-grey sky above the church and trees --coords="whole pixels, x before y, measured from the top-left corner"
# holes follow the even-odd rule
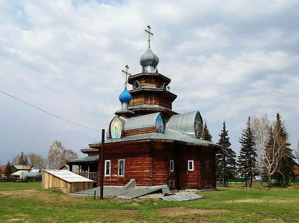
[[[141,71],[150,24],[158,70],[182,102],[173,110],[199,110],[214,142],[226,120],[237,153],[248,115],[280,112],[295,148],[298,8],[298,1],[0,1],[0,90],[95,129],[116,92],[107,128],[120,109],[121,70]],[[46,156],[54,140],[82,157],[97,136],[1,92],[0,114],[1,164],[21,151]]]

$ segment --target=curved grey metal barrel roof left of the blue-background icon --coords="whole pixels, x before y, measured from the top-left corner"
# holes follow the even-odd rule
[[[161,112],[128,118],[126,119],[125,130],[155,127],[159,114]]]

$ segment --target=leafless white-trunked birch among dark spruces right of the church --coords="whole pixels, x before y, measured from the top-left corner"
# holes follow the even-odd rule
[[[281,126],[273,123],[267,115],[260,118],[253,117],[252,130],[258,153],[260,154],[260,172],[268,176],[268,185],[271,187],[271,178],[275,172],[280,172],[279,164],[284,157],[285,140],[281,137]]]

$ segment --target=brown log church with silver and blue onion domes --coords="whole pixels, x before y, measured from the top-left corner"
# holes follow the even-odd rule
[[[119,96],[121,109],[109,125],[104,149],[104,185],[168,185],[170,189],[216,188],[215,155],[222,146],[201,139],[199,111],[179,114],[172,110],[177,95],[167,86],[170,79],[158,72],[159,58],[150,48],[141,55],[141,72],[126,78]],[[127,75],[128,67],[124,73]],[[132,90],[127,90],[127,83]],[[79,174],[100,179],[101,142],[81,152],[87,157],[67,161]]]

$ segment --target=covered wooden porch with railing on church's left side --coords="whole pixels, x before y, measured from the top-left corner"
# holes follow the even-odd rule
[[[69,171],[73,171],[73,165],[78,166],[78,174],[98,182],[99,156],[88,156],[65,161],[69,165]]]

